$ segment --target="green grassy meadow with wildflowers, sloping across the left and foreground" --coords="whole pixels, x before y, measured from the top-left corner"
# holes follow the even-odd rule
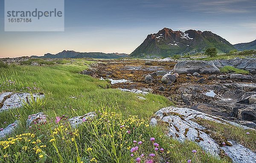
[[[228,162],[227,158],[218,160],[209,154],[203,154],[195,143],[178,143],[163,136],[165,130],[162,127],[148,127],[149,118],[154,112],[171,106],[172,103],[165,97],[154,94],[146,95],[146,100],[139,100],[137,94],[110,89],[108,81],[79,74],[87,69],[89,64],[90,62],[81,59],[68,65],[12,65],[0,68],[0,92],[43,92],[46,96],[38,103],[0,112],[0,128],[20,120],[20,127],[13,134],[14,137],[22,133],[35,134],[35,137],[20,136],[22,140],[7,140],[11,146],[6,149],[3,149],[0,142],[0,162],[89,163],[95,158],[99,163],[132,163],[135,162],[135,156],[142,153],[145,154],[144,162],[149,159],[147,155],[154,152],[150,137],[156,137],[157,143],[165,149],[164,153],[156,153],[156,161],[163,155],[166,161],[172,163],[186,163],[189,159],[197,163]],[[98,114],[98,111],[106,112],[107,119],[101,119],[99,114],[93,122],[81,125],[79,131],[71,129],[65,119],[55,124],[56,116],[75,117],[92,111]],[[31,129],[27,129],[28,115],[38,112],[47,115],[47,123],[42,126],[32,125]],[[132,119],[129,120],[130,115]],[[144,123],[139,125],[142,121]],[[123,124],[124,130],[120,128]],[[131,130],[131,134],[127,134],[127,130]],[[120,132],[124,136],[122,140],[118,137]],[[103,138],[105,134],[108,136]],[[53,138],[55,140],[49,142]],[[36,140],[38,143],[32,143],[37,142]],[[133,140],[141,140],[143,145],[135,156],[131,157],[129,149],[135,146]],[[46,147],[40,147],[42,145]],[[26,146],[29,149],[25,150]],[[87,151],[89,147],[92,148],[91,151]],[[40,150],[36,153],[37,148]],[[198,151],[197,154],[192,153],[194,149]]]

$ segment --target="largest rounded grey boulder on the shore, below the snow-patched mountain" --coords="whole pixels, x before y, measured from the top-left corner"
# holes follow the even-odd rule
[[[212,61],[184,60],[176,63],[173,72],[177,72],[178,74],[193,74],[194,72],[200,74],[218,74],[220,73],[220,70]]]

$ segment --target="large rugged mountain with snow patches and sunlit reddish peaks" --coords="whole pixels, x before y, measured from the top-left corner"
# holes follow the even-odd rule
[[[148,34],[144,42],[129,56],[168,57],[175,54],[202,53],[210,47],[217,48],[218,53],[235,49],[227,40],[211,31],[190,29],[182,32],[164,28],[156,34]]]

